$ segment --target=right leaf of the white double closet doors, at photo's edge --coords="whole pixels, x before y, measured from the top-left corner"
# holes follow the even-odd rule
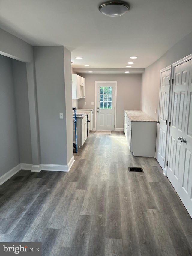
[[[187,94],[185,131],[183,136],[184,139],[186,139],[186,143],[183,143],[183,168],[179,176],[179,180],[181,181],[179,197],[192,217],[192,60],[188,62],[190,62],[190,76]]]

